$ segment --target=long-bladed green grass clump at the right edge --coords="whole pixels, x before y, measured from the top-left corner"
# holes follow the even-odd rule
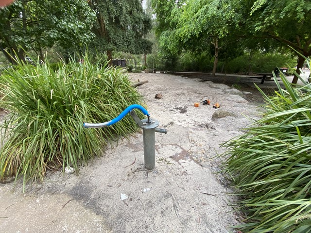
[[[226,142],[225,172],[246,214],[247,233],[311,232],[311,84],[262,95],[266,111],[247,133]],[[259,89],[259,88],[258,88]],[[259,89],[260,91],[260,89]]]

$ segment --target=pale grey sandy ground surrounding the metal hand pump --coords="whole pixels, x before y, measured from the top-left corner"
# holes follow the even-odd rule
[[[155,135],[155,169],[144,168],[140,132],[107,148],[79,176],[50,172],[25,194],[21,181],[0,184],[1,233],[234,232],[229,226],[241,218],[228,206],[232,190],[215,173],[215,156],[224,151],[219,144],[260,117],[254,86],[243,86],[251,94],[241,97],[230,94],[231,84],[205,82],[209,77],[129,76],[149,81],[138,90],[168,132]],[[206,99],[221,107],[202,105]]]

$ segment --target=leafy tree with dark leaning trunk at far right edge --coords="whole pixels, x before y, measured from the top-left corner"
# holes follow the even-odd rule
[[[278,47],[286,47],[297,56],[297,70],[311,55],[310,0],[232,0],[239,12],[240,29],[245,34],[273,39]],[[303,56],[301,56],[301,54]],[[295,76],[292,83],[297,83]]]

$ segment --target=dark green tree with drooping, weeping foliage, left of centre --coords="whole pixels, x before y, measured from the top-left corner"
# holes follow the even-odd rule
[[[92,29],[96,38],[90,45],[106,51],[108,60],[113,50],[134,54],[151,51],[151,42],[144,38],[151,29],[151,17],[140,0],[89,0],[88,4],[97,19]]]

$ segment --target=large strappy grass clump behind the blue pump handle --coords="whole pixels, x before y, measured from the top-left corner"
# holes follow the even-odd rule
[[[19,62],[0,78],[0,102],[10,113],[2,127],[0,179],[42,179],[47,169],[100,156],[104,146],[138,128],[130,116],[113,126],[85,129],[83,122],[109,121],[142,98],[118,68],[70,61],[57,69]]]

